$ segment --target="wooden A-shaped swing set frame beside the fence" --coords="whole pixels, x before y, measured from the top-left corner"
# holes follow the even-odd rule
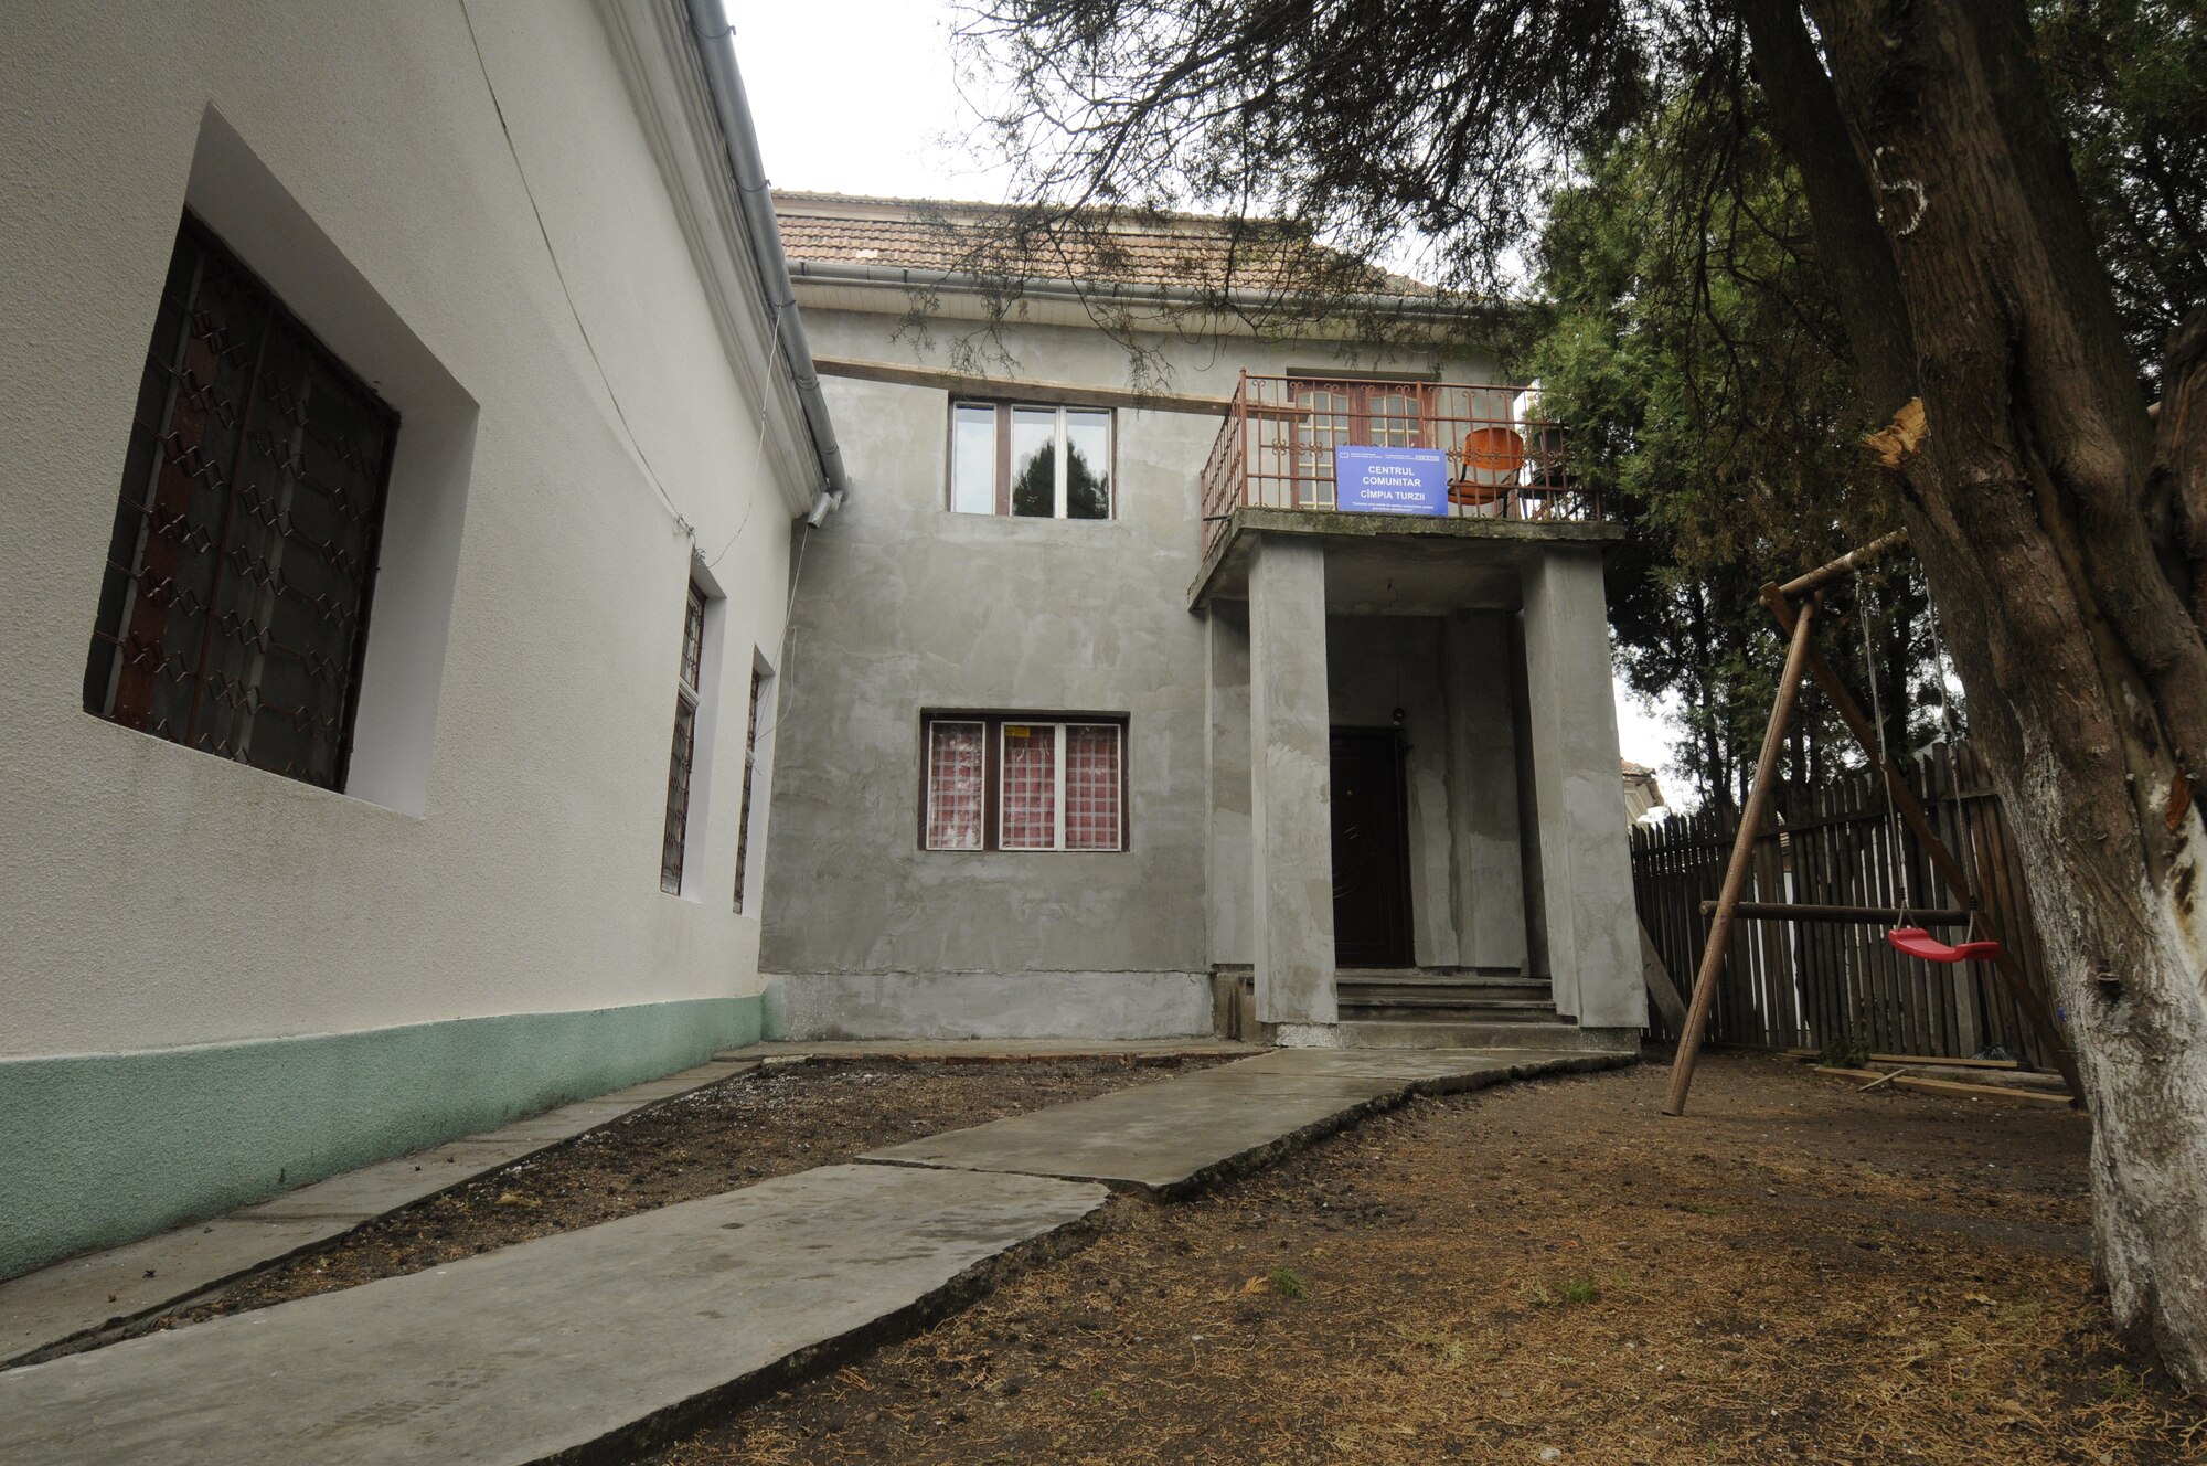
[[[1808,678],[1814,678],[1816,687],[1823,689],[1823,695],[1830,698],[1838,720],[1847,726],[1847,733],[1852,733],[1854,742],[1863,746],[1869,768],[1885,784],[1891,812],[1898,815],[1900,824],[1907,824],[1907,828],[1916,835],[1918,850],[1922,850],[1931,861],[1931,868],[1938,870],[1940,881],[1947,883],[1947,890],[1964,894],[1969,903],[1966,910],[1960,912],[1898,914],[1905,918],[1929,918],[1929,925],[1969,925],[1984,943],[1993,945],[1993,952],[1986,954],[1984,960],[1993,963],[2008,998],[2044,1040],[2046,1053],[2053,1058],[2055,1069],[2061,1071],[2061,1082],[2068,1086],[2070,1104],[2075,1108],[2083,1108],[2083,1080],[2077,1073],[2077,1055],[2070,1053],[2059,1024],[2055,1024],[2055,1016],[2046,1009],[2046,998],[2030,987],[2022,963],[2017,963],[2015,954],[2008,952],[2006,943],[2002,943],[1991,916],[1986,916],[1977,896],[1971,892],[1969,874],[1962,868],[1962,861],[1953,857],[1947,841],[1942,841],[1938,830],[1931,828],[1931,819],[1925,815],[1925,808],[1918,804],[1913,790],[1909,790],[1907,779],[1900,777],[1900,771],[1894,768],[1880,751],[1880,731],[1863,713],[1861,704],[1845,689],[1838,673],[1832,671],[1832,665],[1823,658],[1814,642],[1816,612],[1823,607],[1825,587],[1832,581],[1856,574],[1863,565],[1905,548],[1907,539],[1907,530],[1894,530],[1891,534],[1869,541],[1861,550],[1838,556],[1830,565],[1819,565],[1816,570],[1794,576],[1783,585],[1772,581],[1761,589],[1761,603],[1770,609],[1770,616],[1777,618],[1779,629],[1785,634],[1785,671],[1779,673],[1779,691],[1770,707],[1770,724],[1763,729],[1763,751],[1755,762],[1755,782],[1748,786],[1748,806],[1739,812],[1739,832],[1732,839],[1732,859],[1724,868],[1724,885],[1719,888],[1710,912],[1708,945],[1702,949],[1702,971],[1693,980],[1693,1000],[1686,1009],[1684,1031],[1677,1038],[1677,1058],[1671,1062],[1671,1095],[1662,1106],[1664,1115],[1686,1113],[1686,1091],[1693,1086],[1693,1069],[1702,1055],[1702,1038],[1708,1031],[1708,1009],[1717,998],[1717,980],[1724,971],[1724,956],[1730,947],[1732,925],[1737,921],[1883,923],[1896,914],[1889,907],[1827,907],[1739,899],[1746,890],[1755,839],[1761,832],[1763,819],[1770,815],[1779,751],[1785,744],[1794,709],[1801,702],[1801,684]]]

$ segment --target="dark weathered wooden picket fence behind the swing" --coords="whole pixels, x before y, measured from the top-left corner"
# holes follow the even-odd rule
[[[2022,861],[1969,744],[1938,746],[1909,773],[1933,828],[1977,888],[2028,980],[2046,994],[2046,969]],[[1964,907],[1931,870],[1916,839],[1887,817],[1885,790],[1865,773],[1805,797],[1781,790],[1774,828],[1755,841],[1746,901],[1902,905],[1900,859],[1909,861],[1909,905]],[[1693,985],[1708,941],[1704,901],[1724,885],[1732,826],[1715,812],[1677,815],[1633,828],[1633,890],[1646,927],[1680,991]],[[1960,941],[1960,932],[1938,932]],[[2053,998],[2046,998],[2055,1009]],[[1675,1040],[1660,1013],[1655,1038]],[[1971,1058],[2004,1049],[2046,1064],[2039,1035],[2002,991],[1989,963],[1925,963],[1885,943],[1880,925],[1741,921],[1719,974],[1708,1042],[1755,1049],[1823,1049],[1861,1042],[1874,1053]]]

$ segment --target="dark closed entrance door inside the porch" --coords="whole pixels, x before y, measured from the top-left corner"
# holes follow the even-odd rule
[[[1333,960],[1412,963],[1410,819],[1393,729],[1333,729]]]

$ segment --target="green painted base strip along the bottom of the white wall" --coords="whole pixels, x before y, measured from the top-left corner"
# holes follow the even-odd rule
[[[0,1278],[759,1038],[761,1000],[0,1060]]]

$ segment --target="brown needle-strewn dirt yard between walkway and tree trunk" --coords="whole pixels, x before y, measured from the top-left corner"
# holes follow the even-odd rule
[[[2088,1126],[1713,1055],[1417,1100],[658,1466],[2207,1462],[2088,1263]]]

